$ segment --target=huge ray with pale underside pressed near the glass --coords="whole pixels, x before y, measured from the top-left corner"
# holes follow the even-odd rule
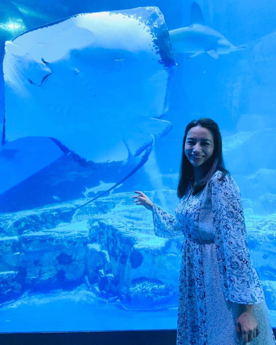
[[[20,152],[13,144],[7,154],[11,143],[30,137],[49,137],[93,164],[124,163],[130,153],[145,152],[138,169],[152,135],[171,129],[160,118],[168,110],[174,68],[157,7],[78,14],[7,41],[2,169]],[[36,162],[32,168],[38,170]]]

